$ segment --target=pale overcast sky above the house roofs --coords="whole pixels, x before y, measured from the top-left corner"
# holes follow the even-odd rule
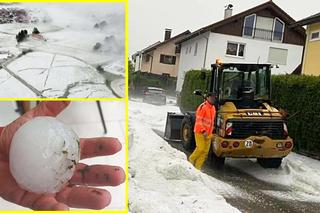
[[[191,32],[223,19],[224,6],[233,4],[233,14],[267,0],[129,0],[129,55],[157,41],[165,28],[172,35]],[[296,21],[320,12],[319,0],[274,0]]]

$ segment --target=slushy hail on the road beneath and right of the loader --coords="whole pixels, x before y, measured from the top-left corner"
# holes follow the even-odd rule
[[[264,182],[279,184],[291,189],[291,194],[278,191],[265,191],[283,199],[320,202],[320,163],[291,152],[283,159],[279,169],[264,169],[255,159],[227,159],[232,167]]]

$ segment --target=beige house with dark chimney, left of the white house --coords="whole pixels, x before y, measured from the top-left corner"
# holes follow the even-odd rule
[[[163,42],[158,41],[132,55],[135,71],[177,77],[180,48],[175,43],[188,34],[187,30],[171,38],[171,30],[166,29]]]

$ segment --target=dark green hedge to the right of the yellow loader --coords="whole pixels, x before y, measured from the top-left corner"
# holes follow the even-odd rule
[[[272,102],[288,113],[295,150],[320,157],[320,77],[273,76]]]

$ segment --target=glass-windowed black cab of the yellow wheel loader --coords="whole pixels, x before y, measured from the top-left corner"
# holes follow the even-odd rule
[[[210,91],[217,94],[217,105],[233,102],[237,108],[259,108],[270,102],[269,64],[213,64]]]

